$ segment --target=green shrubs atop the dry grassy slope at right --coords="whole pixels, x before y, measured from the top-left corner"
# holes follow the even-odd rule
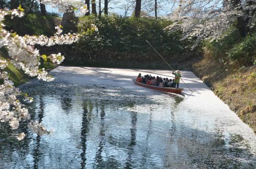
[[[256,34],[250,33],[241,38],[236,27],[230,27],[221,38],[206,41],[205,47],[206,51],[219,61],[249,66],[254,64],[256,59]]]

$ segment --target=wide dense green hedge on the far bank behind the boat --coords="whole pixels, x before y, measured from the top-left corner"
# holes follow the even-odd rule
[[[91,31],[91,25],[98,27],[98,32]],[[190,41],[180,41],[181,32],[169,34],[165,27],[172,24],[166,19],[149,17],[84,16],[79,18],[78,33],[83,36],[74,48],[76,60],[74,64],[84,65],[88,62],[135,63],[138,64],[162,60],[148,45],[148,40],[168,62],[178,63],[191,59]],[[71,63],[71,57],[66,57],[66,64]],[[189,63],[189,61],[188,61]],[[119,63],[118,63],[119,64]],[[91,64],[93,65],[93,64]],[[163,64],[164,65],[164,64]],[[94,65],[97,66],[97,65]],[[106,66],[106,65],[100,65]],[[130,65],[133,67],[132,65]]]

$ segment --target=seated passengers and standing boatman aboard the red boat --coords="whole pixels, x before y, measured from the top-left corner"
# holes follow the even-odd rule
[[[151,75],[144,75],[141,76],[141,73],[139,73],[136,81],[144,83],[146,85],[152,85],[157,87],[165,87],[165,88],[179,88],[180,78],[181,74],[180,71],[177,70],[176,72],[173,71],[173,74],[175,75],[174,79],[168,79],[168,78],[162,78],[162,77],[155,77]]]

